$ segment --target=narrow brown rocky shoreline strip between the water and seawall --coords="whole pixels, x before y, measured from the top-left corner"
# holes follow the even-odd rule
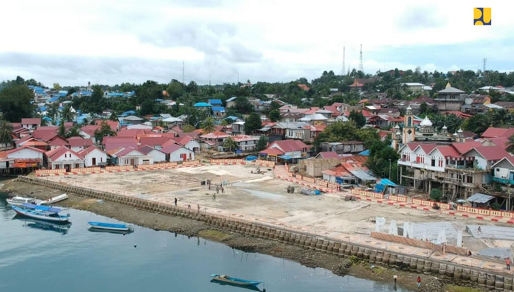
[[[54,188],[36,186],[25,182],[16,182],[12,179],[3,180],[3,186],[1,186],[0,191],[36,197],[38,199],[47,199],[53,195],[63,193]],[[370,265],[358,258],[341,258],[333,254],[308,250],[296,245],[287,245],[269,239],[258,239],[237,232],[223,230],[217,226],[211,226],[208,223],[195,219],[164,215],[115,202],[104,201],[99,204],[97,199],[84,197],[75,193],[68,193],[68,195],[69,199],[60,202],[58,205],[94,212],[98,215],[119,219],[127,223],[133,223],[154,230],[165,230],[191,237],[202,237],[245,252],[258,252],[260,254],[293,260],[306,267],[328,269],[337,276],[350,275],[356,278],[392,284],[393,275],[397,275],[400,278],[398,282],[399,287],[416,290],[415,279],[418,273],[411,271],[395,270],[381,265]],[[371,269],[370,267],[373,266],[374,269]],[[422,275],[421,277],[424,279],[424,283],[436,278],[432,275]],[[450,283],[452,281],[443,280],[443,282]],[[441,291],[445,291],[445,289],[441,287]]]

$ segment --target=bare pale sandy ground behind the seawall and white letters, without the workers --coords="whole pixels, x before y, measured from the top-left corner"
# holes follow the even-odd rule
[[[384,217],[388,224],[395,219],[398,226],[404,221],[454,221],[461,226],[484,224],[477,219],[450,217],[411,208],[345,201],[345,193],[301,195],[298,193],[301,186],[275,178],[271,169],[261,170],[264,173],[257,174],[256,167],[250,165],[206,165],[156,171],[49,176],[46,179],[171,204],[176,197],[182,206],[197,208],[199,205],[201,210],[207,208],[228,216],[258,218],[318,234],[369,234],[374,230],[376,217]],[[205,180],[212,181],[211,190],[201,185],[201,181]],[[222,182],[224,192],[219,191],[214,199],[215,184]],[[287,186],[295,186],[295,193],[287,193]]]

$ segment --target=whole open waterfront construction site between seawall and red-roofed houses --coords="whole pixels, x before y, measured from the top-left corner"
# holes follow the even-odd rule
[[[315,195],[319,192],[306,191],[299,182],[278,178],[280,171],[284,171],[283,166],[271,168],[249,163],[53,175],[44,179],[164,204],[175,204],[176,198],[178,206],[199,209],[199,212],[271,223],[323,236],[358,236],[363,241],[371,239],[377,217],[384,218],[387,224],[395,220],[400,230],[404,222],[414,223],[413,233],[418,239],[426,237],[424,240],[435,241],[444,229],[449,244],[455,244],[457,230],[461,230],[463,247],[474,254],[485,251],[492,260],[501,260],[502,254],[508,254],[514,240],[514,228],[504,220],[486,221],[483,217],[415,208],[413,202],[407,203],[413,205],[409,208],[405,204],[384,204],[376,199],[355,199],[350,191]],[[482,226],[480,234],[476,232],[478,226]],[[501,238],[495,236],[496,226],[505,234]]]

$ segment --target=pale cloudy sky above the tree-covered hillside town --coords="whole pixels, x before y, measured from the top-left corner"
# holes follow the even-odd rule
[[[491,7],[474,26],[473,8]],[[312,80],[365,73],[514,71],[514,1],[4,1],[0,80],[47,86]]]

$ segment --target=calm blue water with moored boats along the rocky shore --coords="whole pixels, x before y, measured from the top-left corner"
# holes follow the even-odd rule
[[[268,292],[393,291],[391,284],[171,232],[139,226],[126,235],[90,232],[87,221],[119,221],[69,213],[71,226],[19,218],[0,194],[0,291],[249,291],[212,283],[211,273],[264,281]]]

